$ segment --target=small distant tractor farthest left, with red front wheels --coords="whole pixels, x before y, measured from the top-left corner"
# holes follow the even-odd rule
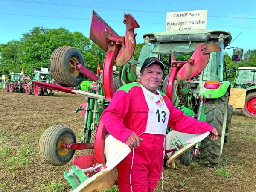
[[[22,81],[22,73],[10,73],[9,75],[5,76],[5,90],[6,91],[10,91],[10,92],[14,92],[16,90],[16,92],[24,92],[24,84]]]

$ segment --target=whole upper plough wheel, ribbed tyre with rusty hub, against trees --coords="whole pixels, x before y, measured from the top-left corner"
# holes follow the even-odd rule
[[[80,63],[85,66],[81,52],[75,47],[58,47],[51,55],[50,69],[53,79],[63,87],[77,87],[84,79],[84,75],[76,69],[71,69]]]

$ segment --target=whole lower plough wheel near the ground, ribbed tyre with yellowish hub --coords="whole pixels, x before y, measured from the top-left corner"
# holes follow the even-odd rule
[[[47,128],[39,141],[39,154],[42,159],[54,166],[67,164],[75,154],[75,150],[65,150],[62,144],[76,143],[72,129],[64,125],[54,125]]]

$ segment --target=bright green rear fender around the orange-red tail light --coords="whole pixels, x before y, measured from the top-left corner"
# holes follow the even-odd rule
[[[229,81],[222,81],[220,82],[220,87],[218,89],[207,89],[204,87],[205,81],[200,87],[200,95],[204,95],[206,99],[215,99],[229,91],[230,92],[230,82]]]

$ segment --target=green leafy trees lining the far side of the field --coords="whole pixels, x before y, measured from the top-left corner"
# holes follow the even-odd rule
[[[134,59],[138,60],[142,43],[136,44]],[[77,48],[84,56],[87,69],[96,73],[98,62],[102,69],[105,51],[93,41],[85,37],[81,32],[70,32],[65,28],[47,29],[35,27],[28,33],[22,34],[20,40],[12,40],[6,44],[0,44],[0,74],[10,72],[20,73],[23,68],[24,74],[28,74],[41,67],[49,69],[52,52],[61,46]],[[188,60],[190,55],[179,55],[179,61]],[[164,59],[164,58],[163,58]],[[243,61],[232,62],[230,55],[225,53],[227,69],[233,67],[256,67],[256,49],[247,50],[243,53]],[[225,73],[224,73],[225,75]],[[228,79],[234,80],[236,73],[230,71]]]

